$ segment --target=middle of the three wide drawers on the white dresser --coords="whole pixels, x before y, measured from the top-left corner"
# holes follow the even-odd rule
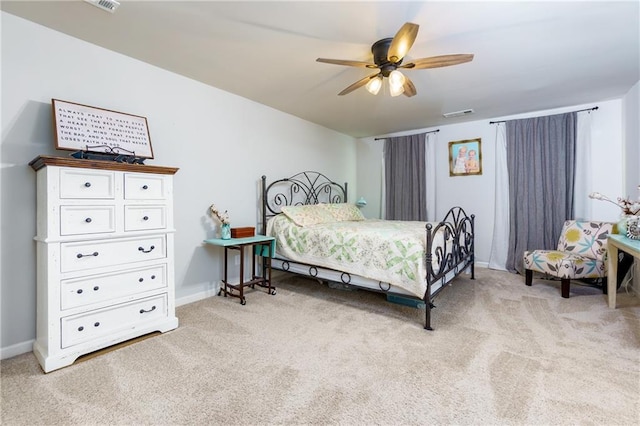
[[[63,280],[60,283],[60,309],[87,306],[166,286],[166,264]]]

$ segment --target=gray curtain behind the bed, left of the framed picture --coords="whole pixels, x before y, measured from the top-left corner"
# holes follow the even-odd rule
[[[421,133],[384,143],[386,219],[427,220],[425,139]]]

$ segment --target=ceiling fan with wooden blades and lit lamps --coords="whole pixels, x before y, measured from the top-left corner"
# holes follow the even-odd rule
[[[407,97],[414,96],[416,87],[413,82],[402,74],[398,69],[426,69],[448,67],[458,65],[473,60],[472,54],[442,55],[432,56],[429,58],[414,59],[411,62],[402,64],[405,55],[413,46],[413,42],[418,35],[417,24],[407,22],[396,33],[393,38],[383,38],[378,40],[371,46],[373,53],[373,62],[349,61],[344,59],[326,59],[318,58],[317,62],[325,62],[327,64],[346,65],[350,67],[378,69],[375,74],[371,74],[361,80],[356,81],[351,86],[338,93],[339,96],[351,93],[354,90],[366,86],[367,90],[376,95],[382,87],[384,77],[389,78],[389,90],[391,96],[404,94]]]

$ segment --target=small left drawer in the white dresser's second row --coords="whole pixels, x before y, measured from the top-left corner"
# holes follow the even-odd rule
[[[60,235],[115,232],[115,206],[61,206]]]

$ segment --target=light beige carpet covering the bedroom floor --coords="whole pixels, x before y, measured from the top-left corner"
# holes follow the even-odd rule
[[[279,274],[180,327],[43,374],[1,363],[4,425],[636,425],[640,300],[476,269],[424,311]]]

